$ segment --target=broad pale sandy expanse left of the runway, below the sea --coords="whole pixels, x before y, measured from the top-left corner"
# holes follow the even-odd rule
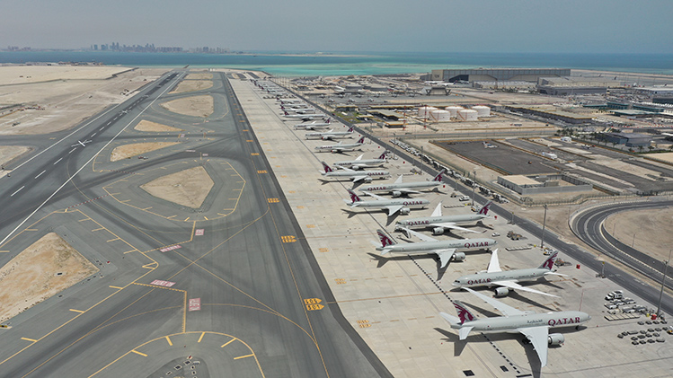
[[[6,107],[0,110],[0,135],[46,134],[74,127],[111,104],[127,100],[166,72],[164,68],[129,70],[117,66],[0,66],[0,108]],[[116,73],[120,74],[111,76]]]

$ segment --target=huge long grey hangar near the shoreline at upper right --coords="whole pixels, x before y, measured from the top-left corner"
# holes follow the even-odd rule
[[[570,76],[570,68],[476,68],[433,69],[430,80],[447,83],[464,82],[534,82],[540,77]]]

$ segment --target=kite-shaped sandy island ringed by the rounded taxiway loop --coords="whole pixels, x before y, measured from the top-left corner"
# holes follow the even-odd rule
[[[175,172],[141,185],[147,193],[184,207],[198,208],[213,188],[213,180],[203,167]]]

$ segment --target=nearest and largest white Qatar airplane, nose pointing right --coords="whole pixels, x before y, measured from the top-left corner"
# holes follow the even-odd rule
[[[537,356],[540,358],[541,367],[547,365],[547,347],[548,345],[561,345],[565,338],[561,333],[549,333],[552,328],[575,327],[579,330],[581,323],[591,320],[586,312],[562,311],[562,312],[524,312],[505,303],[489,298],[484,294],[476,293],[474,290],[465,287],[465,290],[478,296],[484,302],[491,304],[505,316],[491,317],[487,319],[477,319],[472,312],[467,310],[460,301],[453,301],[456,307],[458,317],[451,316],[445,312],[439,312],[439,315],[451,324],[451,328],[458,330],[461,340],[465,340],[472,330],[481,332],[507,332],[522,333],[527,341],[533,344]]]

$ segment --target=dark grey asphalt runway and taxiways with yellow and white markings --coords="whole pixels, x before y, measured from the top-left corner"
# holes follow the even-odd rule
[[[35,151],[0,179],[0,263],[56,232],[100,270],[5,322],[0,376],[390,376],[334,303],[226,75],[169,93],[183,74],[74,131],[3,138]],[[198,94],[207,118],[159,106]],[[153,141],[178,145],[109,159]],[[194,167],[214,182],[199,208],[139,188]]]

